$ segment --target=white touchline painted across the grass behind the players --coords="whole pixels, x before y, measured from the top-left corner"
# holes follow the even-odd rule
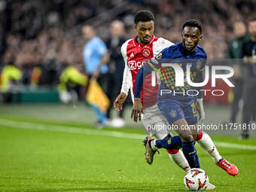
[[[31,122],[23,122],[17,120],[4,120],[0,119],[0,126],[11,126],[14,128],[22,128],[29,130],[47,130],[47,131],[55,131],[62,133],[80,133],[86,135],[95,135],[95,136],[112,136],[123,139],[144,139],[145,135],[137,134],[137,133],[121,133],[117,131],[107,131],[107,130],[92,130],[92,129],[84,129],[75,126],[59,126],[59,125],[50,125],[43,123],[31,123]],[[255,150],[256,145],[240,145],[233,144],[228,142],[214,142],[216,146],[223,148],[236,148],[236,149],[245,149],[245,150]]]

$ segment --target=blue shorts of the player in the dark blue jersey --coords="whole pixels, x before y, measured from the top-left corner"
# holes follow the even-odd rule
[[[158,99],[157,105],[170,125],[182,118],[184,118],[189,125],[197,123],[197,110],[193,98],[189,100],[176,98]]]

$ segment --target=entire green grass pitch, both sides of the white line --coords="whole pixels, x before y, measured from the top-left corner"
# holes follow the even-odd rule
[[[125,128],[95,130],[90,108],[76,106],[0,106],[0,191],[187,191],[185,172],[165,150],[151,166],[145,162],[142,140],[147,135],[141,123],[130,123],[130,110]],[[206,106],[207,112],[209,119],[221,115],[212,106]],[[211,137],[220,154],[239,168],[239,175],[227,175],[196,145],[215,191],[256,191],[255,137]]]

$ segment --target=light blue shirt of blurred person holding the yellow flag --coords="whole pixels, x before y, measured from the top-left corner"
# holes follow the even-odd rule
[[[108,49],[105,43],[99,38],[94,37],[84,46],[83,59],[85,62],[85,69],[88,74],[92,74],[94,70],[99,66],[102,56],[108,53]],[[108,66],[102,66],[100,73],[106,74],[108,72]]]

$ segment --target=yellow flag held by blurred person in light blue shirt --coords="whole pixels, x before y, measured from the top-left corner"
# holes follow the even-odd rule
[[[90,105],[96,105],[101,111],[108,111],[110,101],[95,78],[90,78],[86,99]]]

